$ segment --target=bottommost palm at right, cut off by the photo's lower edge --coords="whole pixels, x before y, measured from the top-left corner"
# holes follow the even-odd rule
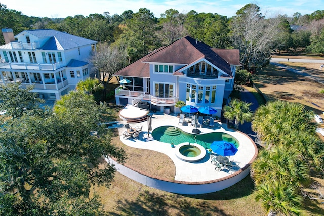
[[[303,198],[298,195],[294,187],[286,183],[264,182],[256,187],[256,201],[261,200],[268,215],[298,215],[301,211]]]

